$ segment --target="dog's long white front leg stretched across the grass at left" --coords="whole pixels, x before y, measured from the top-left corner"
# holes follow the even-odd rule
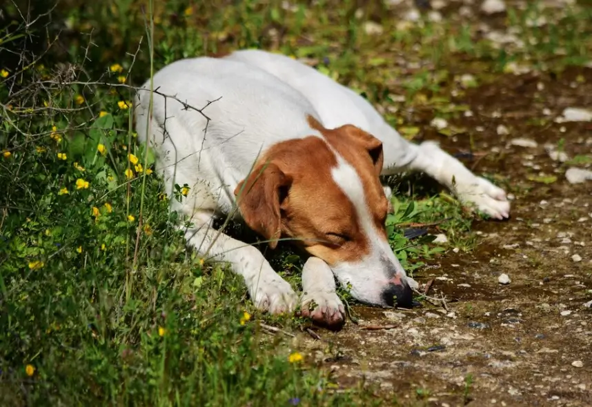
[[[208,261],[228,262],[233,272],[244,278],[249,295],[260,310],[273,314],[292,312],[297,303],[294,290],[277,275],[262,253],[249,244],[213,229],[208,219],[211,215],[202,215],[201,218],[199,222],[194,217],[194,226],[185,231],[188,244]]]

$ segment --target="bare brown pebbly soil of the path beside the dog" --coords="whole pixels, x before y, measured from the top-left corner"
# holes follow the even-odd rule
[[[355,306],[358,324],[319,330],[322,341],[306,334],[298,340],[319,366],[333,370],[340,387],[364,381],[400,405],[591,406],[592,308],[584,304],[592,300],[592,181],[568,183],[568,165],[553,161],[544,143],[564,139],[570,157],[590,157],[592,124],[554,123],[553,117],[566,107],[592,106],[592,70],[502,75],[458,103],[468,103],[474,115],[451,124],[472,129],[475,150],[488,152],[465,163],[506,179],[511,219],[475,222],[475,250],[449,250],[415,276],[420,289],[432,281],[428,297],[444,297],[445,306]],[[534,120],[541,118],[548,123]],[[418,121],[428,126],[428,119]],[[500,124],[509,135],[497,135]],[[517,137],[538,146],[508,145]],[[454,141],[428,132],[426,139],[448,152],[469,151],[468,136]],[[557,180],[529,180],[549,176]],[[510,284],[498,283],[502,272]],[[328,342],[339,357],[330,356]]]

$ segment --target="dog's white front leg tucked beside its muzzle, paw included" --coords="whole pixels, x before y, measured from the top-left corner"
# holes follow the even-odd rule
[[[344,305],[335,292],[333,270],[318,257],[309,257],[302,268],[302,290],[302,315],[330,327],[344,323]]]

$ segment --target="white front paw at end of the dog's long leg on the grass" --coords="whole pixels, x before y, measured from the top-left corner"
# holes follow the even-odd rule
[[[250,296],[255,306],[271,314],[293,312],[297,304],[297,295],[282,277],[260,279],[250,287]]]

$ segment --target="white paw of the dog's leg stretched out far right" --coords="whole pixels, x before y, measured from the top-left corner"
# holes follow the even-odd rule
[[[459,187],[457,197],[462,203],[473,204],[494,219],[502,220],[510,216],[510,202],[506,192],[488,180],[475,177],[471,183]]]

